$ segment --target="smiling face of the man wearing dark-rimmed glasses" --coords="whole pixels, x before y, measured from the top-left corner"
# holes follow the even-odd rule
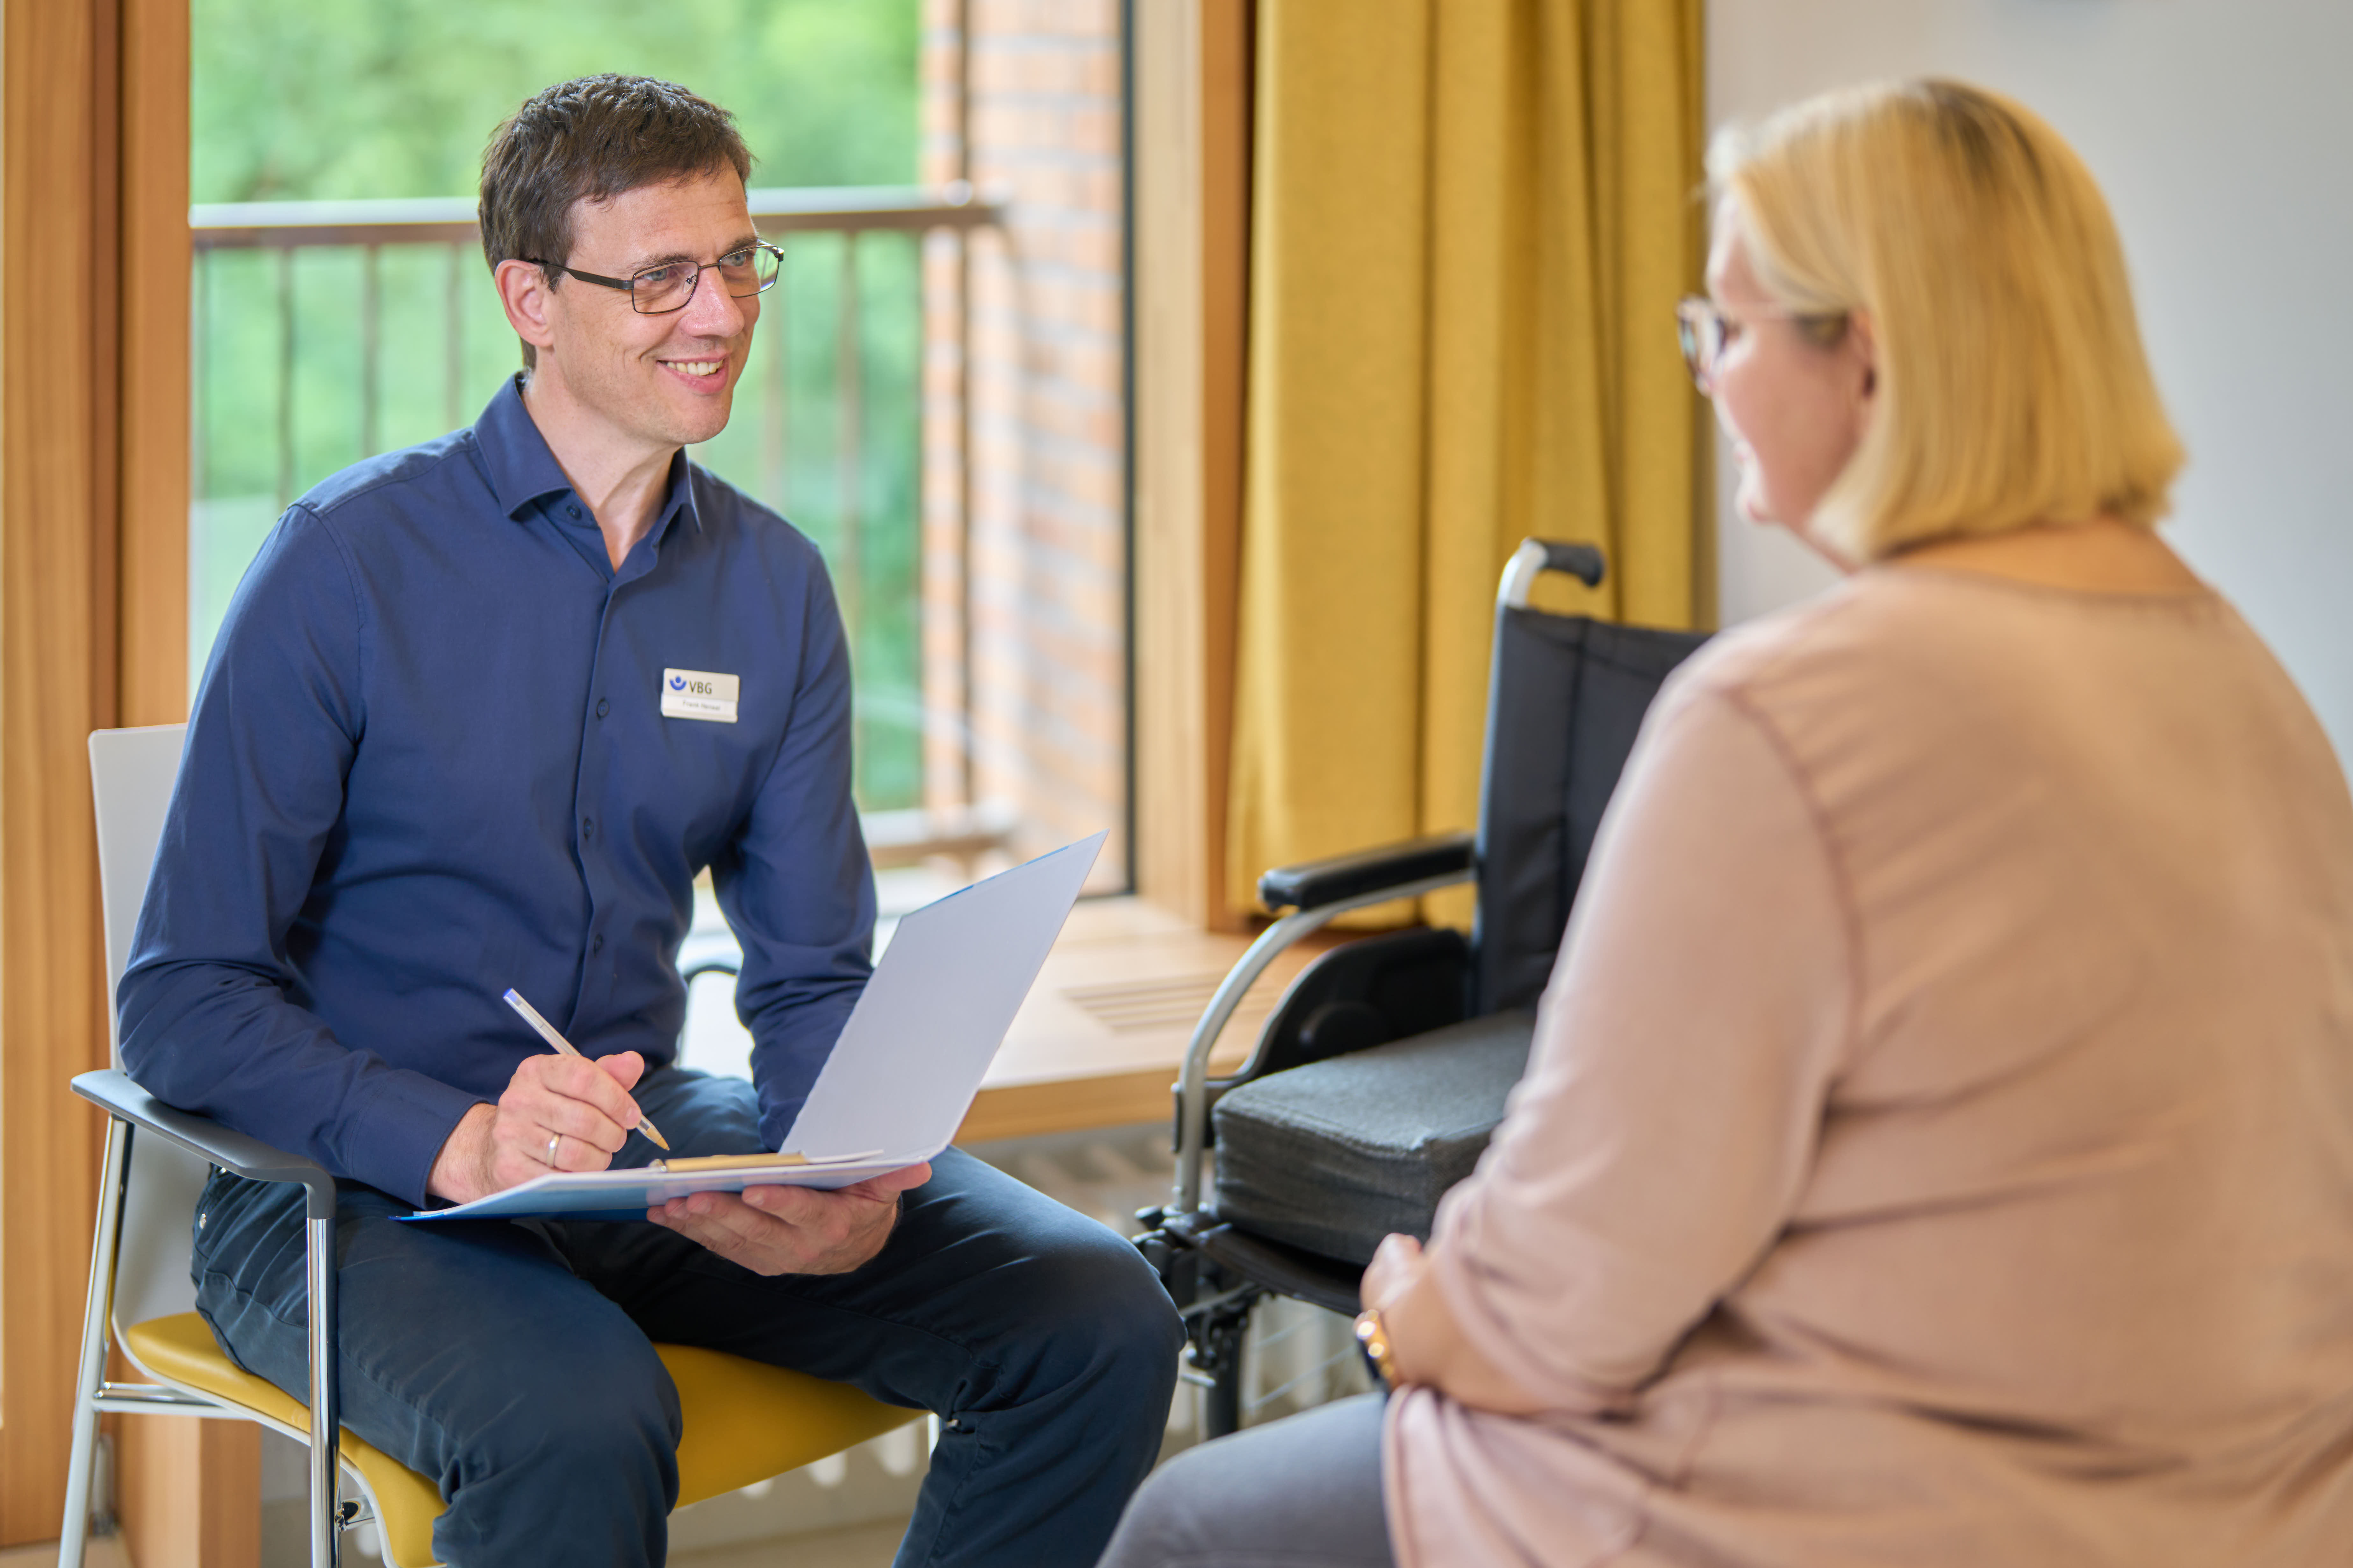
[[[694,299],[666,315],[638,315],[621,289],[558,275],[546,306],[555,343],[539,350],[534,376],[560,378],[569,400],[621,440],[649,447],[711,440],[727,428],[760,320],[760,296],[729,296],[711,263],[753,237],[734,169],[574,205],[565,266],[628,277],[685,261],[704,266],[704,275]]]

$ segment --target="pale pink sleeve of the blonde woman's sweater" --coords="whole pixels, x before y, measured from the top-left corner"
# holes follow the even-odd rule
[[[1694,670],[1697,675],[1697,670]],[[1765,719],[1671,686],[1600,832],[1529,1070],[1431,1265],[1522,1387],[1602,1410],[1795,1208],[1847,1053],[1854,943],[1824,825]]]

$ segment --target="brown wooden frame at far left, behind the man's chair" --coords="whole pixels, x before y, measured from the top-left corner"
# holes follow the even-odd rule
[[[188,5],[16,0],[0,31],[5,1547],[59,1528],[96,1201],[66,1091],[106,1065],[85,738],[186,715]]]

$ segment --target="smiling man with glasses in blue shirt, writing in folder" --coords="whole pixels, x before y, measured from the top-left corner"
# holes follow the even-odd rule
[[[1179,1324],[1118,1237],[958,1150],[652,1222],[395,1222],[645,1164],[640,1114],[678,1154],[781,1147],[866,980],[833,590],[682,454],[727,423],[776,277],[748,172],[725,110],[642,78],[551,87],[492,139],[482,249],[525,371],[264,543],[195,698],[122,1056],[344,1178],[344,1422],[442,1486],[442,1561],[664,1561],[664,1340],[936,1410],[901,1563],[1092,1563],[1158,1455]],[[704,867],[758,1088],[675,1065]],[[595,1060],[546,1053],[506,987]],[[198,1305],[296,1396],[301,1260],[299,1187],[212,1178]]]

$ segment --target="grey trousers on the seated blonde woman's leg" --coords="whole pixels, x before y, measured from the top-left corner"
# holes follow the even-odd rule
[[[1318,1406],[1160,1467],[1099,1568],[1393,1568],[1381,1396]]]

